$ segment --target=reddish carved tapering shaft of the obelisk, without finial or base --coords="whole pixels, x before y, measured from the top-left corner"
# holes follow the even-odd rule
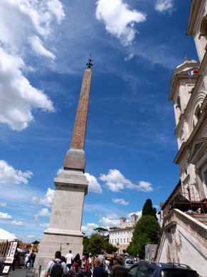
[[[70,145],[70,148],[73,149],[84,149],[91,74],[92,72],[90,69],[85,69],[83,84],[80,90],[78,110],[75,118],[75,126],[73,129],[73,138]]]

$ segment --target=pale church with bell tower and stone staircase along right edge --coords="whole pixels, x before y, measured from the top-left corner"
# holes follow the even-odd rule
[[[207,0],[191,1],[187,35],[193,36],[199,61],[185,59],[171,76],[180,178],[161,205],[155,258],[189,264],[207,276]]]

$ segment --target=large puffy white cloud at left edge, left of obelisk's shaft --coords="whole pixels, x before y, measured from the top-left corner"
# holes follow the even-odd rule
[[[21,131],[33,121],[31,110],[54,111],[53,103],[43,91],[33,88],[21,68],[25,67],[18,56],[11,56],[0,48],[0,122]]]

